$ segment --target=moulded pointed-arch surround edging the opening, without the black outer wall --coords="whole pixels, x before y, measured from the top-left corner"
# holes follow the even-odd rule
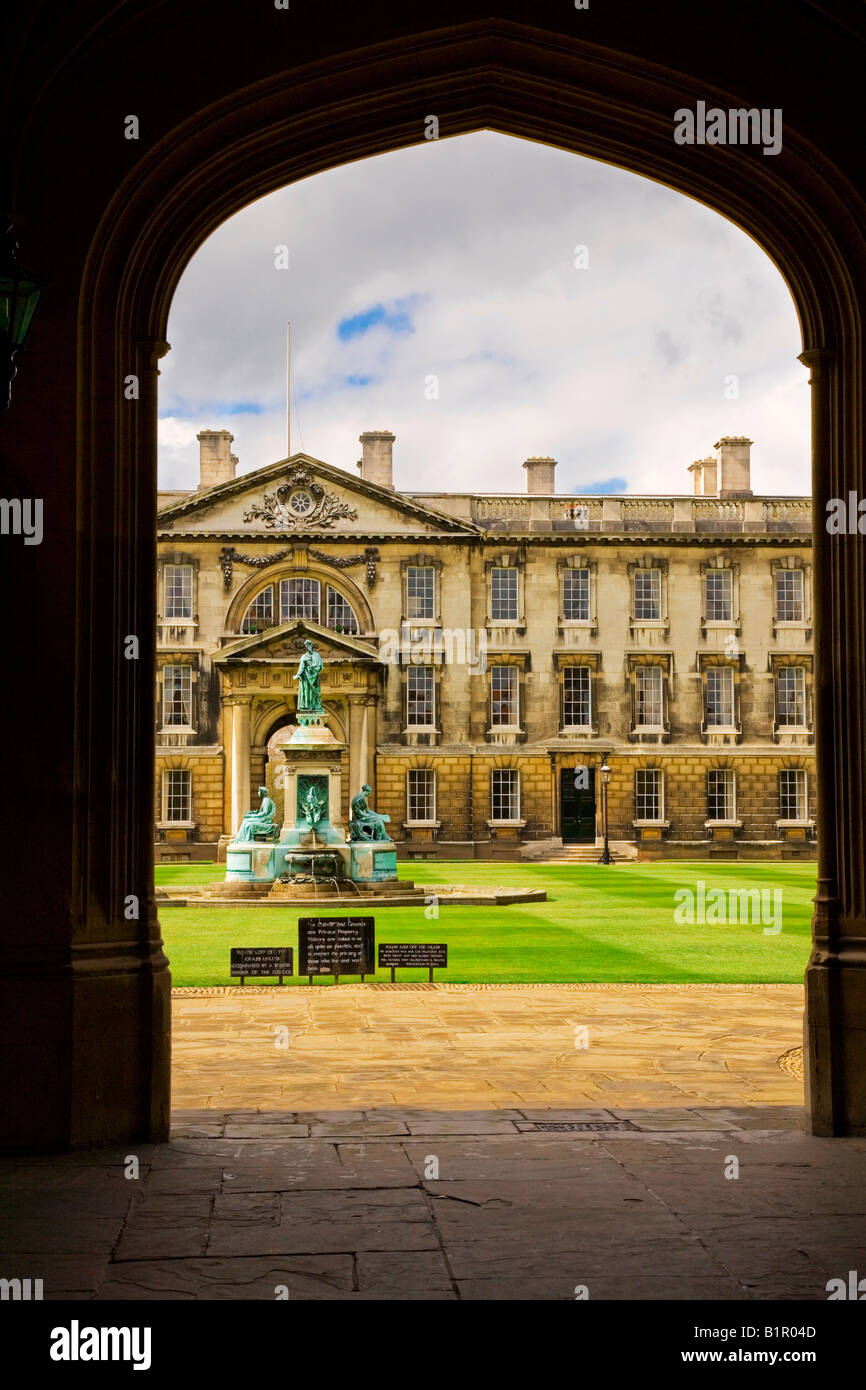
[[[120,183],[90,238],[78,295],[78,905],[71,947],[79,966],[95,959],[95,948],[104,955],[108,941],[113,952],[110,972],[74,969],[64,986],[75,1066],[64,1073],[68,1120],[51,1141],[168,1131],[170,981],[150,888],[153,751],[142,731],[153,727],[156,374],[168,304],[189,256],[265,192],[424,139],[423,106],[435,107],[442,135],[499,129],[669,183],[744,228],[791,288],[801,360],[810,371],[813,498],[823,517],[831,498],[862,493],[866,481],[853,279],[865,254],[858,200],[796,128],[778,160],[759,150],[719,158],[709,147],[677,146],[673,110],[706,95],[706,82],[630,54],[562,36],[553,44],[538,31],[481,21],[448,31],[445,42],[435,33],[392,39],[375,61],[360,49],[321,58],[304,71],[303,90],[279,72],[224,93],[207,104],[206,117],[183,114]],[[721,90],[713,99],[740,104]],[[118,374],[138,378],[135,400],[118,389]],[[826,596],[815,614],[820,862],[806,1073],[812,1127],[820,1134],[866,1131],[866,760],[862,702],[853,698],[866,688],[860,587],[853,545],[834,545],[819,525],[815,591]],[[100,603],[106,594],[117,596],[115,605]],[[122,659],[118,631],[140,634],[138,670]],[[133,926],[122,913],[129,894],[142,902]],[[42,987],[40,980],[40,997]],[[31,1005],[26,992],[25,986],[22,1008]],[[100,1030],[85,1026],[106,1009],[126,1020],[114,1049],[124,1065],[111,1077]]]

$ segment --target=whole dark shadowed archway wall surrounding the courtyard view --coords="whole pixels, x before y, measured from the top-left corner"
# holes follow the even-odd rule
[[[170,974],[150,824],[157,373],[178,278],[227,217],[293,179],[420,143],[430,113],[443,138],[492,128],[664,182],[752,235],[791,289],[812,382],[816,518],[831,496],[866,495],[866,215],[847,136],[823,114],[844,88],[847,21],[834,13],[844,17],[845,6],[778,8],[780,24],[799,25],[803,54],[822,44],[830,53],[833,75],[813,72],[808,92],[798,64],[785,67],[751,29],[749,44],[735,24],[708,26],[703,38],[691,0],[669,4],[664,25],[649,14],[627,33],[605,7],[575,21],[552,0],[442,0],[431,32],[416,32],[402,3],[363,15],[332,8],[341,24],[325,35],[313,14],[291,11],[291,43],[275,28],[285,14],[245,14],[232,63],[225,24],[235,13],[225,19],[217,7],[204,19],[190,0],[82,6],[79,32],[60,22],[42,32],[33,21],[22,39],[17,81],[39,95],[15,132],[11,206],[21,259],[44,268],[51,289],[14,386],[4,456],[18,460],[18,489],[46,498],[49,513],[40,566],[32,550],[18,562],[29,603],[11,614],[7,642],[32,652],[33,614],[46,630],[50,620],[61,635],[31,663],[33,703],[44,689],[54,714],[58,688],[75,698],[50,749],[10,751],[7,798],[25,805],[33,783],[50,787],[56,834],[50,845],[21,845],[6,870],[1,1080],[22,1097],[6,1145],[168,1133]],[[523,11],[532,26],[502,10]],[[674,110],[755,104],[742,89],[763,90],[762,58],[776,74],[762,104],[785,106],[778,156],[674,145]],[[145,136],[125,146],[136,71],[160,81],[135,97]],[[726,72],[738,74],[738,90]],[[83,101],[85,90],[99,101]],[[136,400],[124,398],[131,374]],[[806,1072],[820,1134],[866,1133],[863,573],[856,541],[817,525],[819,891]],[[124,657],[131,632],[138,662]],[[10,703],[1,727],[18,713]],[[129,895],[138,916],[125,910]]]

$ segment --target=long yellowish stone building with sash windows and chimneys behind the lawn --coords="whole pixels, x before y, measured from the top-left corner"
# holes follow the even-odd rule
[[[813,856],[808,498],[755,496],[720,439],[681,496],[396,491],[395,436],[359,477],[306,455],[158,498],[157,859],[211,858],[267,784],[297,666],[325,659],[343,795],[403,855]]]

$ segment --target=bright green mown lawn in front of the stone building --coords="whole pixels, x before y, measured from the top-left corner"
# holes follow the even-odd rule
[[[438,920],[425,919],[421,908],[379,908],[374,913],[377,944],[448,942],[449,969],[436,974],[442,980],[783,983],[801,981],[809,956],[815,865],[603,867],[427,860],[400,865],[399,872],[418,884],[500,884],[548,892],[546,902],[527,906],[441,908]],[[165,865],[157,867],[156,881],[181,894],[185,885],[209,883],[222,873],[221,865]],[[759,923],[677,924],[674,892],[695,890],[698,880],[708,892],[781,890],[781,931],[765,934]],[[341,915],[327,906],[321,912]],[[297,963],[297,917],[313,915],[311,908],[160,908],[172,981],[231,984],[229,947],[289,945]],[[377,979],[391,976],[382,970]],[[427,974],[398,972],[398,980],[413,979]],[[320,983],[327,986],[327,979]]]

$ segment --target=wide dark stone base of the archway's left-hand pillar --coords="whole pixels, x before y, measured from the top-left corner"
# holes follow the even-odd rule
[[[168,1138],[171,976],[161,951],[22,951],[0,977],[0,1148]],[[133,1150],[131,1150],[132,1152]]]

